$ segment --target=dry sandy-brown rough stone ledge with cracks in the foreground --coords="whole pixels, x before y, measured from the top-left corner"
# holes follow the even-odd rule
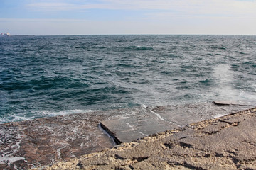
[[[43,169],[256,169],[256,108]]]

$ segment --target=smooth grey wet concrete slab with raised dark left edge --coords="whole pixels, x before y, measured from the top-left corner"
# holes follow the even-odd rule
[[[141,107],[133,108],[125,116],[120,115],[112,120],[104,120],[101,125],[117,143],[131,142],[165,130],[249,108],[253,106],[217,106],[213,103]]]

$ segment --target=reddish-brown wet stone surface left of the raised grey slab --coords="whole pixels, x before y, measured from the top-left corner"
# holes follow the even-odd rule
[[[31,169],[112,147],[92,112],[0,125],[0,169]]]

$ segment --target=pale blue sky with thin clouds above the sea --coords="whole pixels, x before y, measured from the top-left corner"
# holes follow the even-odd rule
[[[256,0],[0,0],[11,35],[256,35]]]

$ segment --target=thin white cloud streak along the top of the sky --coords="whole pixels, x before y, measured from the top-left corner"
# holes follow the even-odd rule
[[[177,16],[235,16],[256,17],[255,1],[238,0],[100,0],[33,2],[27,4],[30,11],[85,11],[88,9],[137,10],[161,13],[175,13]],[[156,13],[158,11],[159,14]]]

